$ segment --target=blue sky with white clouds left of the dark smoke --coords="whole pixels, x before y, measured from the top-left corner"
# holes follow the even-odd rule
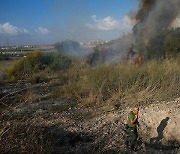
[[[1,0],[0,45],[111,40],[131,31],[137,0]]]

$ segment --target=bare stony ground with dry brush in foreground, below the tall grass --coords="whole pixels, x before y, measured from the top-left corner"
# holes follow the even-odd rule
[[[30,98],[1,110],[1,153],[128,153],[124,125],[131,107],[120,102],[117,107],[110,102],[84,108],[63,98],[53,99],[48,91],[55,88],[55,80],[29,87]],[[9,86],[15,88],[13,84]],[[19,88],[22,89],[16,90]],[[23,93],[19,91],[18,95]],[[8,97],[13,99],[13,94]],[[180,152],[180,99],[140,103],[139,107],[141,142],[137,153]],[[162,126],[163,139],[154,143],[156,129],[166,117],[169,121]]]

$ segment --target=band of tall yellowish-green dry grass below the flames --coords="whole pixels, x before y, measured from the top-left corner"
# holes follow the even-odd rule
[[[179,59],[72,68],[56,92],[84,105],[172,100],[180,94]]]

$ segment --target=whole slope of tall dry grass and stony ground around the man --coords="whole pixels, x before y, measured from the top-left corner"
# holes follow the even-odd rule
[[[50,63],[48,72],[39,65],[41,72],[26,80],[1,81],[0,152],[129,153],[125,124],[138,105],[137,153],[178,153],[179,62],[176,57],[142,65],[78,63],[49,73],[55,69]]]

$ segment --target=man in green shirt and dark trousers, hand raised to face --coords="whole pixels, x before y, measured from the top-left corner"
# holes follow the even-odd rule
[[[138,122],[138,113],[139,108],[136,106],[133,108],[133,110],[128,114],[128,120],[127,120],[127,132],[128,132],[128,146],[132,151],[137,150],[137,127],[139,126]]]

